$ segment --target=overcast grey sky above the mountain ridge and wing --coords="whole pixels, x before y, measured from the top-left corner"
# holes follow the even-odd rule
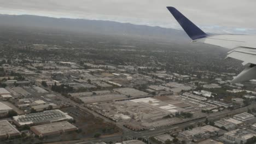
[[[206,32],[256,34],[255,0],[0,0],[0,14],[129,22],[180,29],[176,7]]]

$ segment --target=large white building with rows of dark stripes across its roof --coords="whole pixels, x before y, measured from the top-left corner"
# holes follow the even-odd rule
[[[19,127],[24,125],[38,125],[60,121],[73,121],[73,118],[61,110],[50,110],[28,115],[14,116],[14,123]]]

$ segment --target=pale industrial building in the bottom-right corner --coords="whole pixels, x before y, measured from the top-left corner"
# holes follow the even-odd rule
[[[236,129],[225,133],[222,140],[228,143],[243,144],[253,138],[253,134],[246,130]]]

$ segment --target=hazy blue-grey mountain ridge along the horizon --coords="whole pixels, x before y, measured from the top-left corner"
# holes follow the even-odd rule
[[[46,28],[106,35],[128,35],[169,40],[189,40],[184,31],[101,20],[66,19],[33,15],[1,15],[0,26]]]

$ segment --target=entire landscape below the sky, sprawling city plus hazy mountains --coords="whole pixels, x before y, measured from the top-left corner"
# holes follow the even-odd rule
[[[1,144],[256,143],[256,80],[232,83],[243,66],[223,47],[170,28],[0,19]]]

